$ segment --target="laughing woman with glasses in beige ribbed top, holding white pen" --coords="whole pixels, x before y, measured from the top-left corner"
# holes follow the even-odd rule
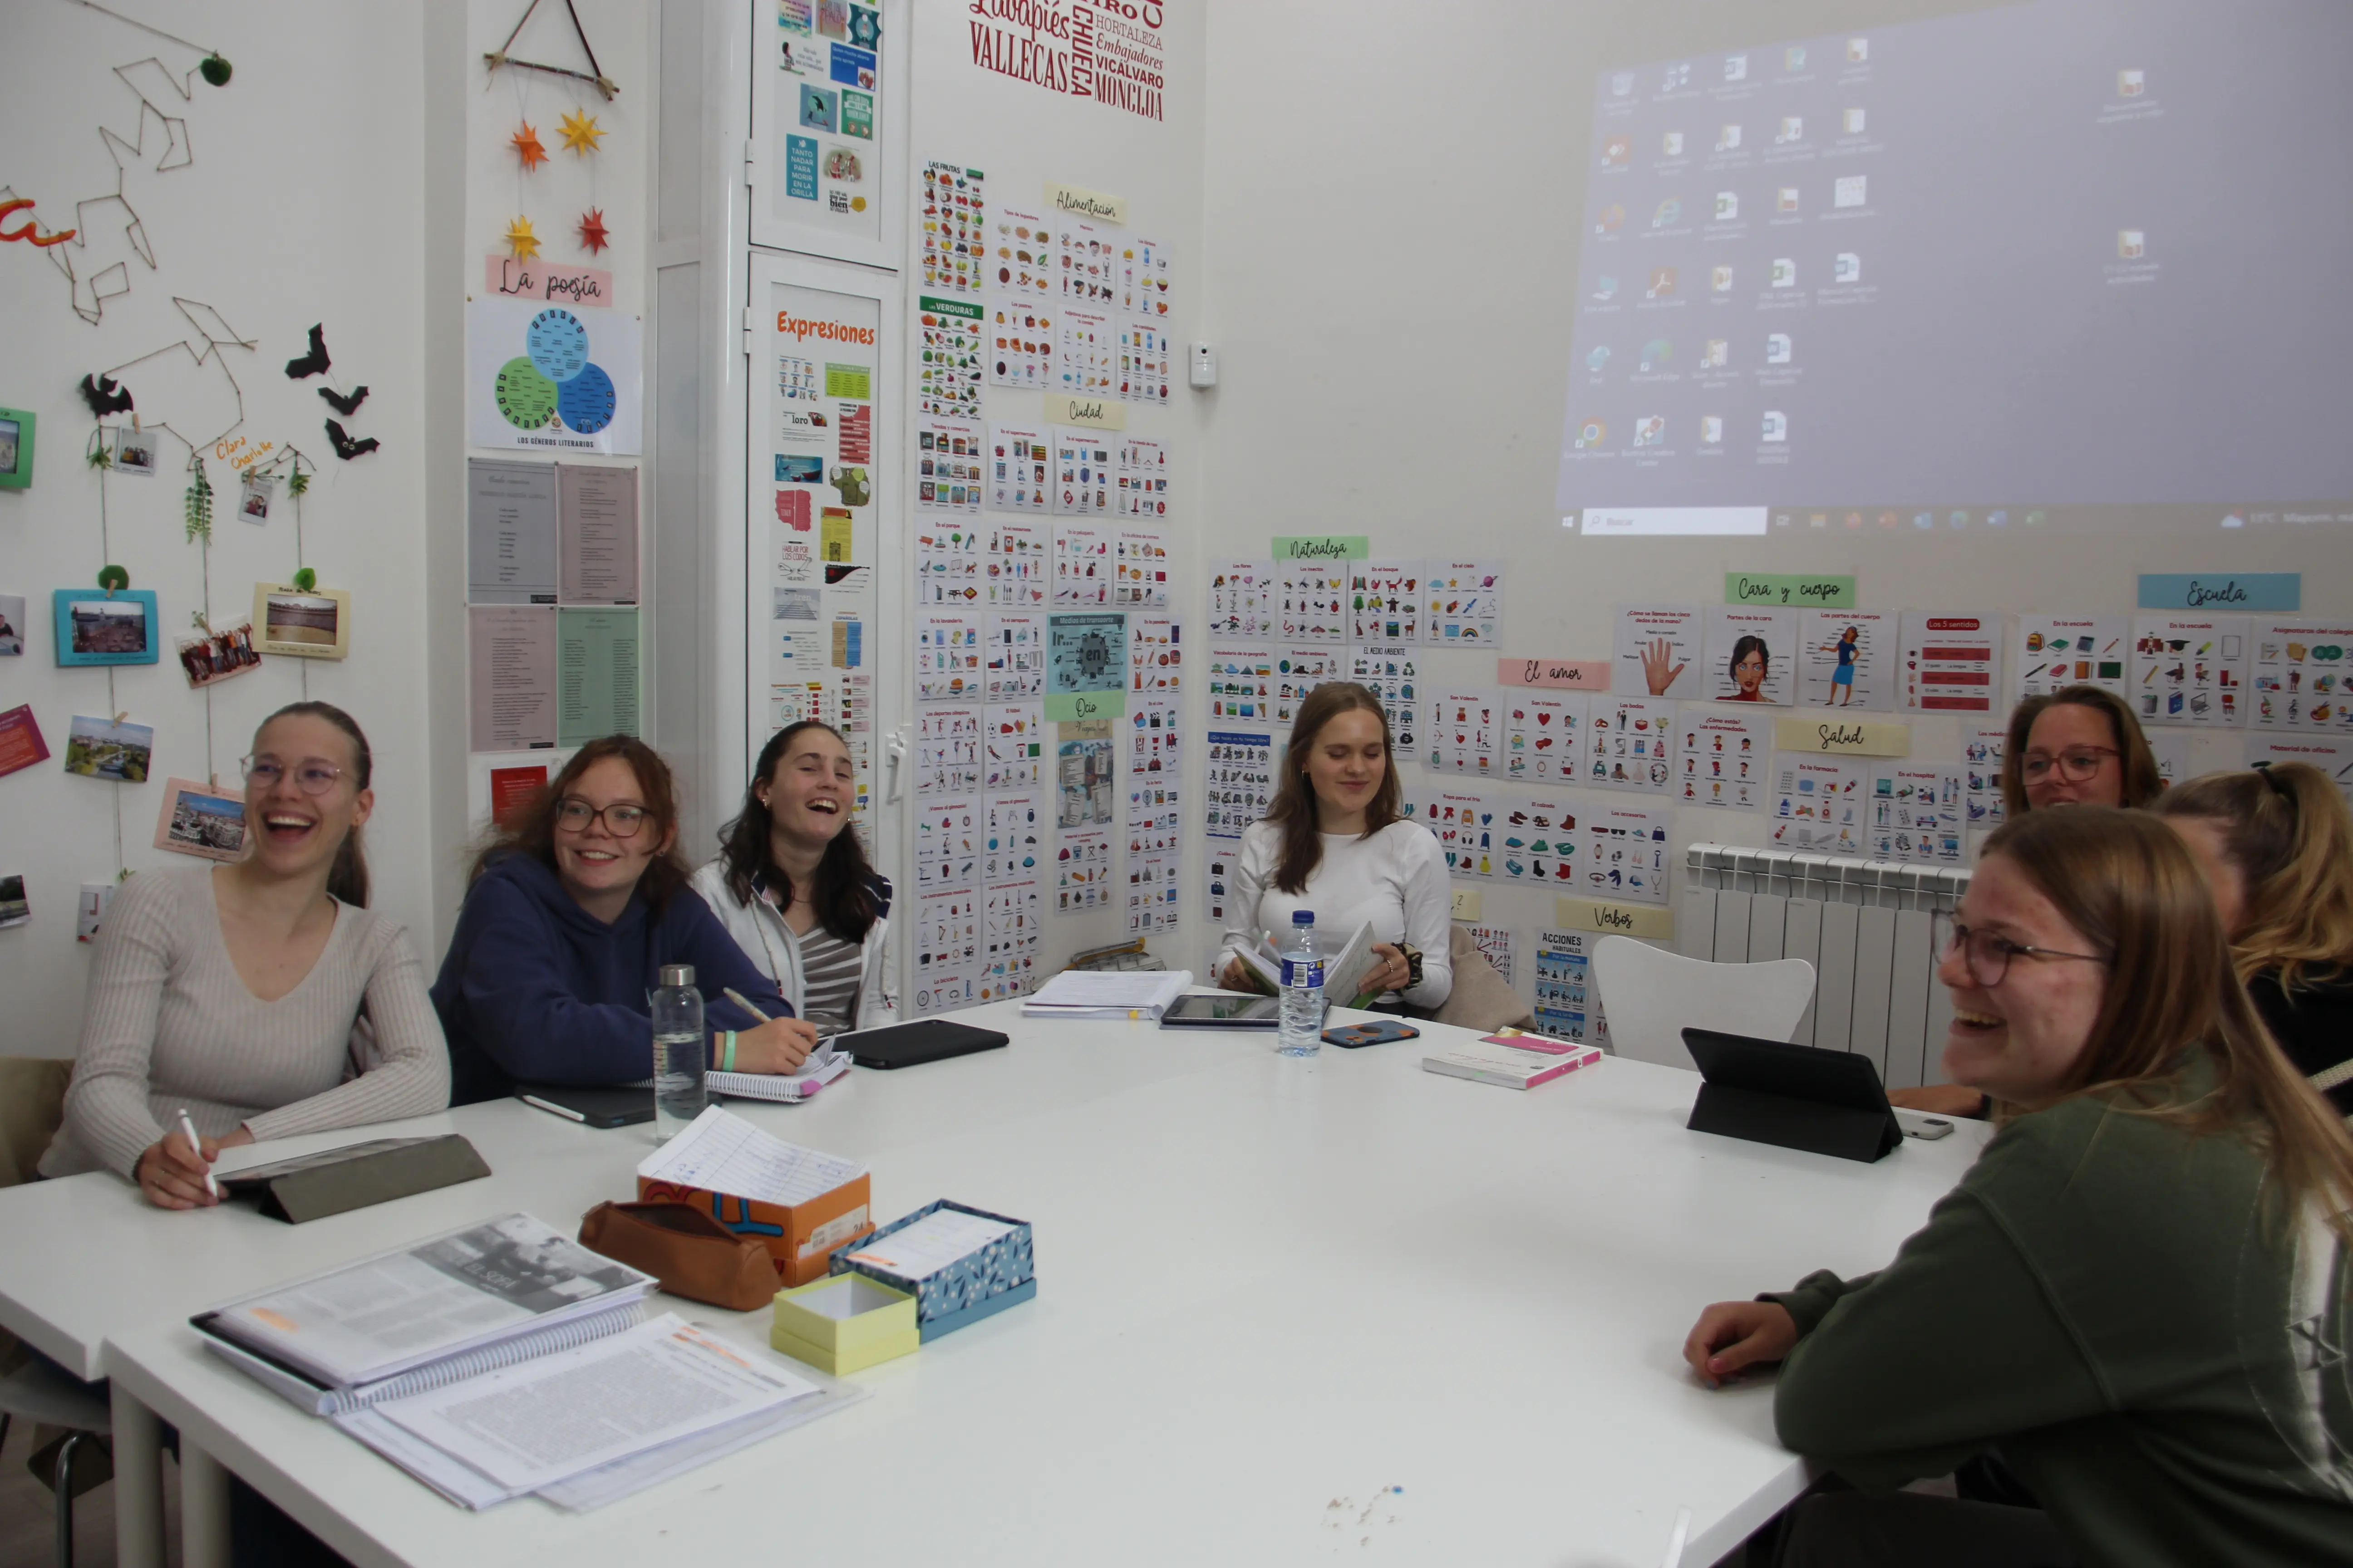
[[[449,1103],[424,966],[367,907],[369,769],[348,712],[280,708],[245,759],[245,856],[122,884],[42,1175],[120,1171],[158,1208],[205,1208],[224,1147]]]

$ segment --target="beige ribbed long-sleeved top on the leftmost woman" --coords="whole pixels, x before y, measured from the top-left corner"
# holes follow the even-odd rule
[[[207,1138],[242,1124],[266,1143],[449,1103],[449,1051],[405,926],[339,903],[311,973],[261,1001],[228,957],[212,875],[139,872],[106,910],[42,1175],[129,1175],[181,1107]],[[355,1063],[362,1001],[372,1067]]]

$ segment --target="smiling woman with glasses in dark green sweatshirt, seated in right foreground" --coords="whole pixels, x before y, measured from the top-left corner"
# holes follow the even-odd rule
[[[2042,1507],[1824,1493],[1781,1561],[2353,1561],[2353,1135],[2191,851],[2137,811],[2007,823],[1937,973],[2002,1131],[1885,1269],[1718,1302],[1685,1359],[1779,1363],[1781,1443],[1857,1486],[1993,1453]]]

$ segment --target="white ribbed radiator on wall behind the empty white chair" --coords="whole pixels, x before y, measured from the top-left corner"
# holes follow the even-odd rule
[[[1800,1046],[1859,1051],[1889,1088],[1941,1084],[1953,1004],[1937,983],[1932,917],[1960,905],[1969,872],[1892,860],[1692,844],[1675,952],[1715,964],[1805,959],[1814,1006]]]

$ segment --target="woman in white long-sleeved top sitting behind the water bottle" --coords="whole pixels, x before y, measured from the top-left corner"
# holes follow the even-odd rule
[[[1235,856],[1219,969],[1231,990],[1252,990],[1240,954],[1261,933],[1282,940],[1292,912],[1313,910],[1334,940],[1372,922],[1365,985],[1384,1001],[1435,1009],[1454,992],[1447,858],[1428,827],[1398,816],[1395,762],[1381,698],[1365,686],[1332,682],[1299,703],[1275,804],[1242,830]]]

